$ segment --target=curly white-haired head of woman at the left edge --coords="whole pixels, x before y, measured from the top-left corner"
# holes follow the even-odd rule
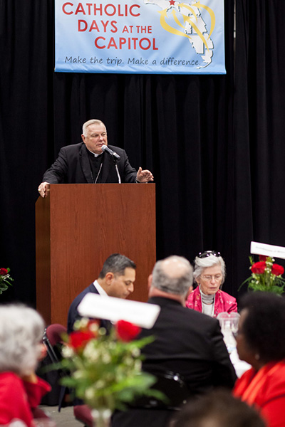
[[[41,315],[25,305],[0,308],[0,371],[31,374],[38,363],[44,322]]]

